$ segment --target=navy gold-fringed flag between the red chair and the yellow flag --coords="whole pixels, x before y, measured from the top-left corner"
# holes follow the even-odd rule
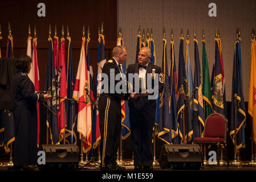
[[[241,61],[241,44],[240,41],[235,42],[234,64],[233,64],[233,78],[232,78],[232,100],[231,100],[231,113],[230,113],[230,137],[234,143],[235,129],[237,131],[237,150],[245,147],[245,101],[243,99],[243,85],[242,85],[242,61]],[[235,105],[236,102],[236,105]],[[236,112],[235,112],[236,110]],[[236,126],[235,126],[236,114]]]

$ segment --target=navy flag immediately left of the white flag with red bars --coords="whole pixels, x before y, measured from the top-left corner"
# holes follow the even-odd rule
[[[67,37],[67,98],[73,98],[74,90],[74,69],[72,59],[71,38]],[[66,101],[67,126],[66,140],[69,144],[76,144],[76,103]]]

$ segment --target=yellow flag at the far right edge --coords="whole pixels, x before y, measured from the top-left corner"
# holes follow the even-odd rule
[[[256,142],[256,41],[251,39],[251,76],[248,113],[253,118],[253,140]]]

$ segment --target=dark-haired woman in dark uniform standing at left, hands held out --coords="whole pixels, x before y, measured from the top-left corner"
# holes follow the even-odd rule
[[[35,86],[27,76],[31,63],[27,55],[18,58],[15,63],[17,73],[11,86],[15,122],[14,167],[17,169],[29,169],[28,165],[37,163],[36,102],[51,98],[49,94],[35,93]]]

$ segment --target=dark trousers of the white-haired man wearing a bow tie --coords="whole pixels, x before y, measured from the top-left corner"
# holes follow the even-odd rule
[[[147,97],[129,101],[134,166],[152,166],[152,133],[156,117],[156,100]]]

